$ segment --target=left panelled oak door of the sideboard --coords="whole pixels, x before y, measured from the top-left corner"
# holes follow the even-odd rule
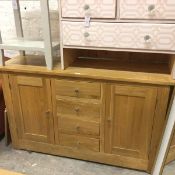
[[[19,139],[52,143],[49,79],[12,75],[10,81]]]

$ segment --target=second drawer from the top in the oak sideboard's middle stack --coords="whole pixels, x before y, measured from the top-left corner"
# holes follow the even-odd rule
[[[90,121],[100,121],[100,104],[57,99],[57,116],[71,116]]]

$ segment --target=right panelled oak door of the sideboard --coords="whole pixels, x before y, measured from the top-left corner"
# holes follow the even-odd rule
[[[105,152],[148,160],[157,88],[134,85],[108,88]]]

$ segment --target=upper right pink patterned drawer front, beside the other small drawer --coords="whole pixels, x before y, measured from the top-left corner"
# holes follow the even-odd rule
[[[120,0],[121,19],[175,19],[174,0]]]

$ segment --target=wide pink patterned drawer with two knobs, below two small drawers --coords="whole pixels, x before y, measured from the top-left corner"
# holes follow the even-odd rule
[[[63,22],[65,46],[175,51],[175,24]]]

